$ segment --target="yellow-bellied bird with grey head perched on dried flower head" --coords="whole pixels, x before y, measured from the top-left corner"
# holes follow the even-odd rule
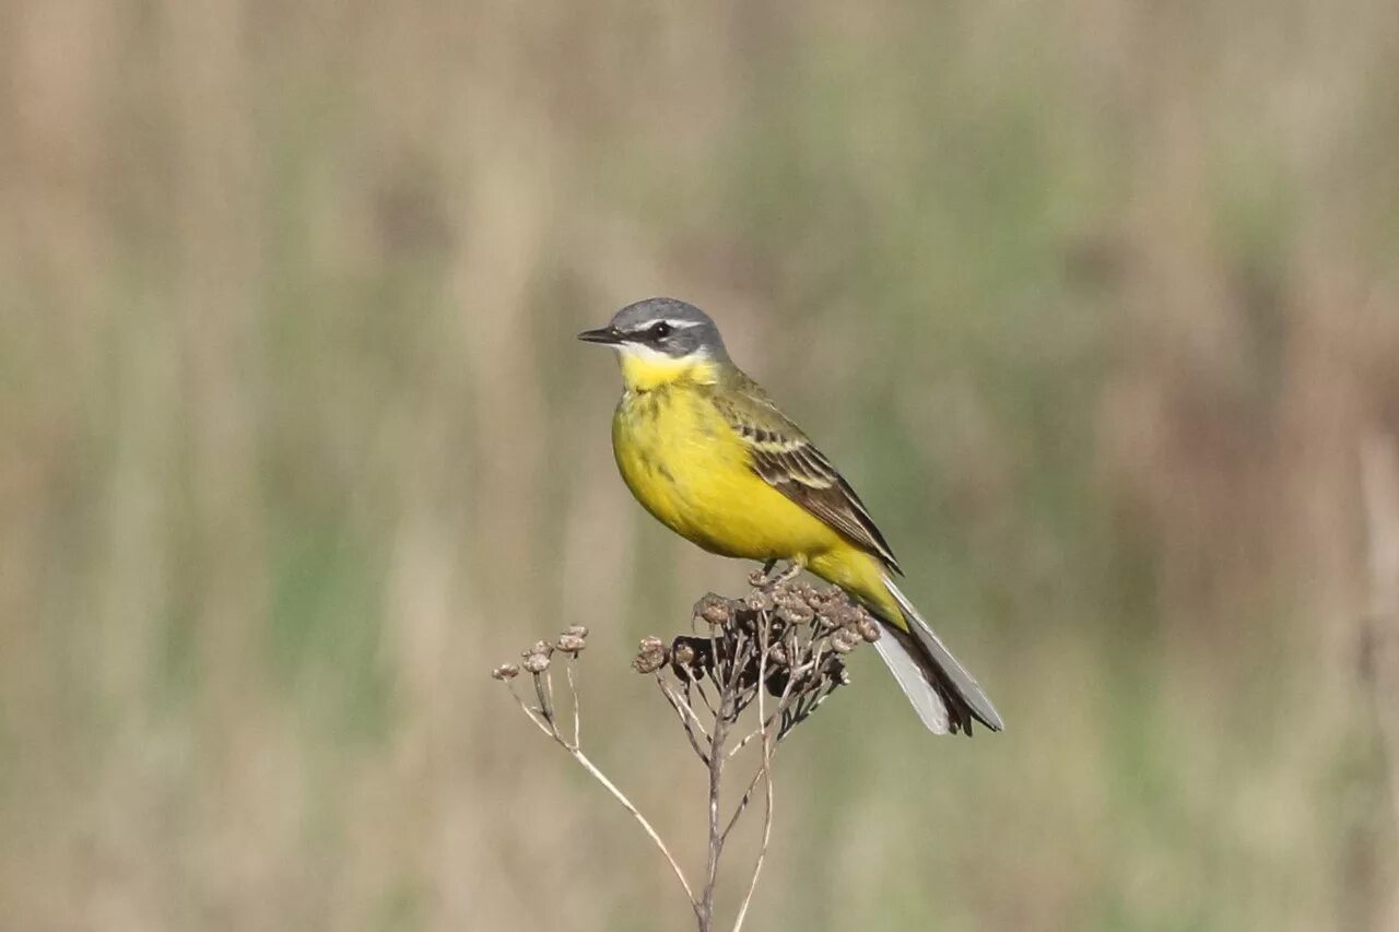
[[[1004,728],[996,707],[894,584],[893,549],[855,488],[730,358],[719,327],[676,298],[630,304],[579,340],[617,351],[611,441],[623,481],[660,523],[704,550],[789,563],[880,621],[874,645],[935,735]]]

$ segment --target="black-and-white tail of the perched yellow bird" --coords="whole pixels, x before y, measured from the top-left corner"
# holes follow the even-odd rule
[[[1004,728],[996,707],[971,673],[951,655],[933,630],[918,614],[894,581],[884,577],[884,588],[908,623],[908,630],[884,626],[884,637],[874,642],[894,679],[928,730],[936,735],[965,732],[971,735],[972,719],[993,732]]]

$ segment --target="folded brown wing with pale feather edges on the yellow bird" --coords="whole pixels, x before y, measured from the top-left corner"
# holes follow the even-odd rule
[[[901,574],[893,549],[874,526],[860,497],[831,460],[761,392],[754,385],[739,393],[736,403],[722,406],[753,453],[753,472]]]

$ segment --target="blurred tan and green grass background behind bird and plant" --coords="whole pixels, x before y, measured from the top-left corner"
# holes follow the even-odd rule
[[[757,929],[1393,929],[1356,451],[1399,428],[1382,0],[0,4],[0,929],[684,929],[625,670],[747,567],[607,446],[673,294],[1009,722],[873,658]]]

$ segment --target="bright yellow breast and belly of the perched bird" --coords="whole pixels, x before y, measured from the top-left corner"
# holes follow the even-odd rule
[[[627,487],[658,521],[705,550],[748,560],[797,560],[848,550],[823,521],[765,483],[748,448],[686,379],[628,389],[613,420]]]

